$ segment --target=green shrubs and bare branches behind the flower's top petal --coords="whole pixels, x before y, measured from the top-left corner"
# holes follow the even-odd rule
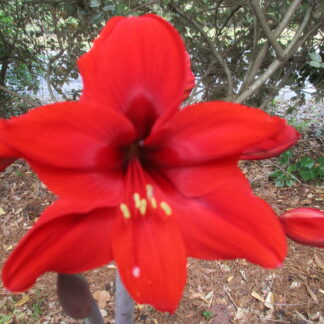
[[[42,80],[52,101],[76,99],[77,89],[62,88],[78,78],[77,57],[105,22],[148,12],[168,19],[185,40],[197,76],[191,101],[266,109],[289,86],[298,107],[306,85],[323,95],[323,9],[320,0],[0,0],[0,116],[37,104]]]

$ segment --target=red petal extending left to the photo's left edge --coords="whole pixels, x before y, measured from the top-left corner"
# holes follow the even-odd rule
[[[114,200],[122,185],[122,147],[134,128],[108,108],[66,102],[12,118],[1,140],[14,148],[59,196]]]

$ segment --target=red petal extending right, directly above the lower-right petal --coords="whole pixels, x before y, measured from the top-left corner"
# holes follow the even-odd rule
[[[164,165],[193,165],[241,154],[271,138],[285,121],[229,102],[189,106],[145,140],[149,157]]]

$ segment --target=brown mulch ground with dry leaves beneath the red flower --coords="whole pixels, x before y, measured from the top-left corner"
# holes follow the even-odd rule
[[[306,138],[296,152],[318,156],[321,141]],[[295,184],[276,188],[269,181],[273,159],[245,161],[243,172],[254,192],[277,213],[294,207],[323,208],[323,187]],[[0,267],[18,240],[54,197],[22,161],[0,174]],[[115,266],[89,271],[86,277],[106,323],[113,323]],[[245,260],[188,260],[187,286],[176,313],[136,305],[135,323],[321,323],[324,309],[324,253],[289,242],[284,266],[265,270]],[[82,321],[80,321],[81,323]],[[78,323],[64,315],[56,296],[56,275],[42,276],[24,294],[0,287],[0,324]],[[322,322],[323,323],[323,322]]]

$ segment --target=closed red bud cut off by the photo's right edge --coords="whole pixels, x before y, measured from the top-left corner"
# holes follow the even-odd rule
[[[295,208],[280,216],[286,235],[306,245],[324,247],[324,213],[315,208]]]

